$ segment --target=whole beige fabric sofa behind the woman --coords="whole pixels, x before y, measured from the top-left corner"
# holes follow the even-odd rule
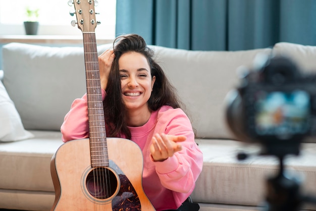
[[[110,46],[99,45],[98,51]],[[236,159],[238,151],[257,147],[233,140],[225,123],[225,96],[239,83],[236,69],[250,67],[258,53],[286,53],[302,69],[316,71],[316,47],[291,43],[244,51],[151,47],[185,102],[203,151],[203,171],[192,199],[201,211],[257,210],[265,199],[266,178],[276,173],[278,162],[273,156]],[[0,94],[0,111],[5,106],[3,115],[12,113],[5,122],[11,125],[0,133],[0,208],[51,208],[55,194],[49,163],[62,144],[65,114],[85,93],[82,53],[81,47],[22,43],[3,47],[2,81],[14,103]],[[4,93],[4,87],[1,90]],[[4,118],[1,121],[6,125]],[[285,165],[296,178],[303,178],[303,193],[316,195],[316,143],[302,144],[301,155],[287,157]],[[303,208],[316,210],[313,204]]]

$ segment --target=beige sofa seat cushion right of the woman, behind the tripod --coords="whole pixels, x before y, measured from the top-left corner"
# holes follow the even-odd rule
[[[279,162],[274,156],[258,156],[259,147],[233,140],[197,139],[203,152],[203,169],[196,181],[192,199],[204,203],[262,205],[266,180],[275,177]],[[238,161],[239,152],[249,152]],[[316,143],[303,143],[299,156],[284,160],[288,178],[300,181],[302,194],[316,196]],[[305,204],[304,204],[305,205]],[[316,205],[306,204],[315,210]]]

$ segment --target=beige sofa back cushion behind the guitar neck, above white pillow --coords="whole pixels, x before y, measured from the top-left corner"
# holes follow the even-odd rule
[[[86,92],[83,47],[9,43],[3,46],[3,69],[4,85],[28,130],[60,130],[73,100]]]

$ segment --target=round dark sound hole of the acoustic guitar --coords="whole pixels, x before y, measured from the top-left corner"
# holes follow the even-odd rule
[[[91,196],[97,199],[111,197],[117,190],[118,180],[107,168],[95,168],[87,176],[86,187]]]

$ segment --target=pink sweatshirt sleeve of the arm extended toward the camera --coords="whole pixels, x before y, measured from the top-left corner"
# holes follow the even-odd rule
[[[163,162],[154,162],[154,165],[162,185],[178,193],[187,193],[175,196],[186,199],[192,193],[195,181],[202,171],[203,155],[195,143],[194,132],[188,117],[180,109],[172,110],[171,114],[166,113],[162,116],[159,122],[167,124],[166,134],[184,135],[187,139],[181,142],[181,151]],[[169,121],[163,120],[165,117]]]

